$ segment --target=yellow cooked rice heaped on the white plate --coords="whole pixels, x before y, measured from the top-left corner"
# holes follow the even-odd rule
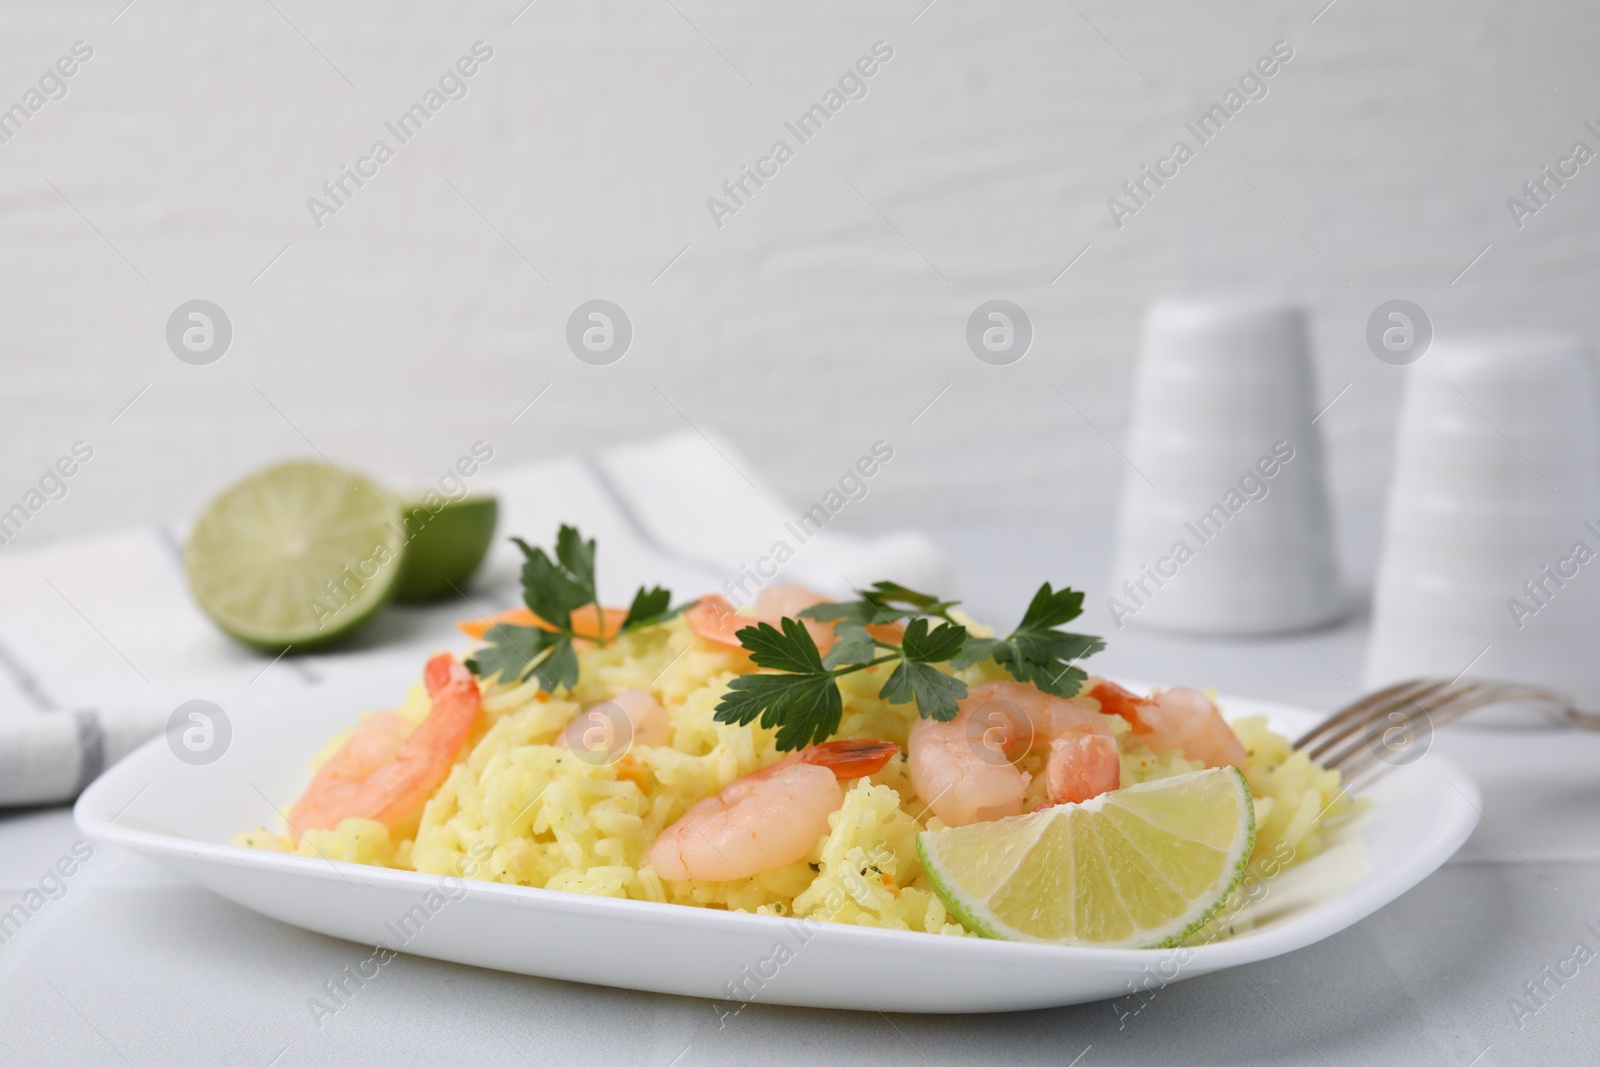
[[[963,622],[974,633],[986,632]],[[845,712],[837,737],[891,741],[901,752],[870,777],[843,782],[845,803],[805,859],[731,881],[662,881],[648,865],[654,838],[702,798],[784,755],[776,749],[776,731],[714,718],[728,683],[755,669],[738,649],[699,640],[682,616],[578,654],[581,678],[557,696],[542,693],[534,680],[480,683],[483,715],[450,776],[410,825],[390,830],[346,819],[331,830],[307,830],[298,848],[264,829],[240,835],[240,843],[568,893],[966,933],[946,913],[917,859],[917,832],[942,824],[925,814],[907,771],[906,741],[917,705],[878,697],[891,665],[840,678]],[[955,673],[970,685],[1006,677],[992,661]],[[611,763],[552,744],[581,705],[635,686],[666,707],[669,744],[634,745]],[[419,723],[429,707],[418,685],[395,710]],[[1122,757],[1123,787],[1202,768],[1176,750],[1149,750],[1123,718],[1104,718]],[[1254,798],[1258,870],[1267,864],[1270,875],[1315,856],[1328,827],[1354,814],[1360,801],[1342,793],[1338,773],[1291,752],[1266,720],[1232,725],[1248,753],[1243,771]],[[312,766],[349,734],[333,737]],[[1045,800],[1043,757],[1027,755],[1019,766],[1034,774],[1032,809]]]

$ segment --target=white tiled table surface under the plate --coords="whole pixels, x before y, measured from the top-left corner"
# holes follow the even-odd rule
[[[934,533],[957,560],[968,606],[995,619],[1014,616],[1042,577],[1098,581],[1109,537],[1099,526]],[[1363,523],[1347,531],[1357,576],[1370,571],[1370,534]],[[1306,638],[1109,637],[1094,665],[1110,673],[1331,709],[1357,693],[1365,627],[1357,613]],[[1600,958],[1563,987],[1547,982],[1555,992],[1520,1027],[1510,1006],[1530,1001],[1523,984],[1576,942],[1600,952],[1586,926],[1600,929],[1600,734],[1454,729],[1435,750],[1485,795],[1485,822],[1450,864],[1342,934],[1179,982],[1142,1005],[949,1017],[750,1006],[722,1019],[710,1001],[400,957],[318,1027],[307,1000],[371,949],[283,926],[98,849],[64,896],[0,945],[0,1061],[1600,1061]],[[34,888],[75,840],[64,808],[0,816],[0,905]]]

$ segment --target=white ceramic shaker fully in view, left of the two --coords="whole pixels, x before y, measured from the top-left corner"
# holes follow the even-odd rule
[[[1344,608],[1306,314],[1261,299],[1149,309],[1107,611],[1277,633]]]

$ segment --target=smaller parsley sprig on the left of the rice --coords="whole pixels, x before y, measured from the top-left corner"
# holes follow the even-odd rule
[[[534,549],[522,537],[512,541],[523,555],[523,603],[552,629],[499,622],[483,635],[488,645],[467,659],[467,669],[483,678],[499,675],[507,681],[523,681],[531,673],[538,677],[541,689],[570,689],[578,685],[578,651],[573,641],[610,645],[616,640],[605,635],[605,611],[595,592],[595,542],[584,541],[576,526],[562,526],[555,534],[552,560],[544,549]],[[683,609],[670,608],[670,601],[672,593],[661,585],[640,585],[618,637],[666,622]],[[586,605],[595,608],[595,633],[578,633],[573,629],[573,611]]]

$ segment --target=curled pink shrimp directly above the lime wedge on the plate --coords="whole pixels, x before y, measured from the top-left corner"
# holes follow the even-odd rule
[[[1048,745],[1050,803],[1078,803],[1117,789],[1122,760],[1104,715],[1021,681],[966,691],[955,718],[918,718],[907,753],[910,782],[946,825],[1022,813],[1032,776],[1016,766],[1034,741]]]

